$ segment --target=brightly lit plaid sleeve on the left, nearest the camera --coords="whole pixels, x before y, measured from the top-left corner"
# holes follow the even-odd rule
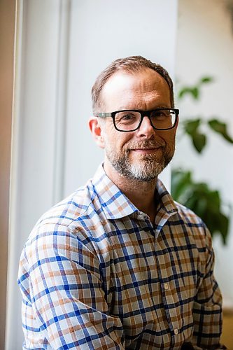
[[[99,259],[62,225],[43,225],[27,248],[31,306],[51,349],[125,349],[104,298]]]

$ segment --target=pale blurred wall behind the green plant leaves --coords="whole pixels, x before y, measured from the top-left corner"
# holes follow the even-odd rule
[[[178,6],[176,78],[192,84],[204,75],[215,82],[203,88],[202,99],[194,104],[186,98],[179,104],[181,119],[204,116],[222,118],[233,135],[233,29],[225,1],[186,1]],[[233,206],[233,145],[208,131],[209,143],[203,155],[193,151],[188,138],[178,139],[174,167],[194,170],[197,181],[218,188],[226,203]],[[224,306],[233,307],[233,207],[227,246],[216,237],[216,279],[223,291]]]

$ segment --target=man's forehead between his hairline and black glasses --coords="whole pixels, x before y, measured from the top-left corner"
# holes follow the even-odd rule
[[[166,80],[153,69],[117,71],[104,85],[101,100],[106,111],[153,109],[156,104],[169,106],[170,90]]]

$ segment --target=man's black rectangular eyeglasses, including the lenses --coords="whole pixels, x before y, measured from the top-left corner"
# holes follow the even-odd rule
[[[116,130],[120,132],[132,132],[139,129],[143,118],[148,117],[150,125],[155,130],[170,130],[175,127],[178,120],[178,109],[154,109],[153,111],[140,111],[137,109],[124,109],[111,113],[98,113],[100,118],[113,118]]]

